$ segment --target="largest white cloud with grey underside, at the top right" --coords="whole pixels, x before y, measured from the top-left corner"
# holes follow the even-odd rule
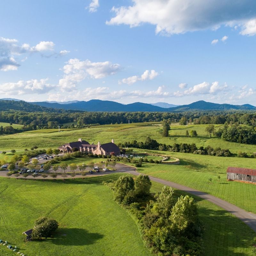
[[[156,33],[180,34],[188,31],[217,29],[221,25],[246,24],[256,18],[256,2],[216,0],[132,0],[132,5],[113,7],[115,16],[108,25],[143,23],[156,26]],[[255,34],[254,21],[245,25],[243,35]]]

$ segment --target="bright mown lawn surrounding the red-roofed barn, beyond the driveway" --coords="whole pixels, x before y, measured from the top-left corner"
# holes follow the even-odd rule
[[[160,151],[146,150],[146,152]],[[168,152],[168,155],[178,157],[180,164],[142,163],[142,167],[137,170],[148,175],[210,193],[248,212],[256,213],[256,185],[227,181],[226,174],[228,166],[256,169],[255,159],[201,156],[171,152]],[[218,176],[220,176],[220,180]],[[209,181],[210,178],[212,181]]]

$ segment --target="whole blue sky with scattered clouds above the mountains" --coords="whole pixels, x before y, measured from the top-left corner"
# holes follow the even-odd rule
[[[252,0],[2,1],[1,98],[256,105],[255,45]]]

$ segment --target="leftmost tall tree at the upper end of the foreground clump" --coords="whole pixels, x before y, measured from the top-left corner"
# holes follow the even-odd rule
[[[134,190],[134,180],[131,176],[122,175],[116,180],[116,201],[121,203],[130,190]]]

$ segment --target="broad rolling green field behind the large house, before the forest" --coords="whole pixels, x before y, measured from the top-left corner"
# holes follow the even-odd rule
[[[235,142],[224,141],[220,138],[210,136],[205,132],[207,125],[171,125],[169,137],[164,138],[161,135],[161,124],[156,123],[133,123],[133,124],[113,124],[113,125],[100,125],[92,126],[84,129],[58,129],[36,130],[23,132],[19,134],[5,135],[0,137],[0,149],[10,150],[15,148],[30,148],[36,144],[39,148],[56,148],[60,145],[77,141],[78,138],[89,141],[89,143],[107,143],[112,138],[115,143],[124,141],[145,141],[147,136],[157,140],[159,143],[172,145],[173,143],[196,143],[200,146],[212,146],[213,148],[228,148],[232,153],[238,151],[247,152],[252,154],[256,152],[255,145],[240,144]],[[221,125],[216,125],[218,130]],[[188,138],[185,135],[186,130],[196,130],[197,138]]]

